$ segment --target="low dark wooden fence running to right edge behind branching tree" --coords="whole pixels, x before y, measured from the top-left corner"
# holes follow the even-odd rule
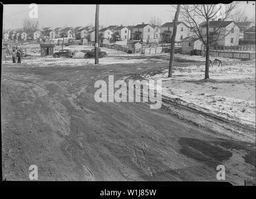
[[[242,60],[255,59],[255,53],[252,53],[252,52],[226,52],[226,51],[210,50],[210,55],[213,57],[239,58]]]

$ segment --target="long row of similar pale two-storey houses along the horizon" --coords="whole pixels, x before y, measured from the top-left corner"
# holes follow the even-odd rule
[[[165,22],[164,24],[150,25],[142,22],[137,25],[109,25],[108,27],[101,28],[99,30],[99,39],[104,44],[109,44],[114,41],[118,44],[126,44],[127,40],[142,40],[145,43],[154,42],[170,42],[172,38],[172,32],[174,27],[174,21]],[[247,30],[255,32],[255,26],[252,26],[252,22],[236,23],[234,21],[222,21],[221,19],[209,22],[210,37],[212,40],[216,39],[216,45],[239,45],[239,39],[241,37],[241,31],[243,35],[246,35]],[[220,34],[219,34],[220,30]],[[206,39],[206,22],[199,24],[199,31],[202,37]],[[254,34],[255,35],[255,34]],[[37,39],[56,39],[61,37],[67,37],[71,39],[86,39],[87,41],[94,42],[95,31],[94,27],[57,27],[51,29],[44,27],[42,30],[36,30],[35,32],[15,32],[7,31],[4,34],[4,39],[21,39],[21,40],[37,40]],[[250,35],[250,37],[252,37]],[[175,37],[176,42],[182,42],[182,40],[195,40],[197,34],[184,22],[177,22],[177,33]]]

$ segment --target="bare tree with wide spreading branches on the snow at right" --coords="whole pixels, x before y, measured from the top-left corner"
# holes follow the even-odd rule
[[[209,78],[209,60],[210,60],[210,45],[216,44],[220,39],[224,39],[232,29],[226,31],[223,29],[223,24],[228,19],[232,18],[232,11],[237,8],[238,2],[231,2],[230,4],[190,4],[182,5],[180,14],[195,34],[202,40],[206,47],[205,51],[205,79]],[[216,23],[215,29],[210,33],[209,22],[210,20],[220,18],[219,23]],[[199,22],[204,21],[206,26],[206,33],[202,33],[200,30]],[[235,24],[234,24],[235,26]]]

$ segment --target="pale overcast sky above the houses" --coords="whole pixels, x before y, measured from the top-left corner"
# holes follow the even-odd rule
[[[245,14],[255,16],[255,1],[240,2]],[[252,5],[254,3],[254,6]],[[85,26],[94,24],[96,6],[81,4],[38,4],[38,21],[44,27]],[[29,17],[28,4],[4,5],[4,29],[22,27],[22,20]],[[136,25],[148,23],[150,18],[159,17],[164,22],[172,20],[175,9],[170,5],[100,5],[99,25]]]

